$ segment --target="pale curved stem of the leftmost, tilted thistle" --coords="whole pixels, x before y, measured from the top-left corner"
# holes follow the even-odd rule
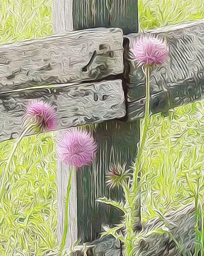
[[[2,178],[1,178],[1,186],[0,186],[0,199],[1,199],[1,204],[2,204],[2,208],[4,209],[4,211],[5,211],[5,208],[3,206],[3,201],[2,201],[3,200],[2,190],[3,190],[3,186],[4,186],[4,182],[5,182],[6,173],[8,172],[8,169],[9,169],[9,166],[10,166],[10,163],[11,163],[11,159],[12,159],[12,157],[13,157],[16,149],[17,149],[18,143],[20,143],[20,141],[28,133],[28,131],[32,130],[35,126],[36,126],[36,124],[28,125],[25,128],[25,130],[23,130],[23,132],[20,134],[20,136],[17,138],[17,140],[14,142],[13,149],[12,149],[11,154],[8,158],[8,161],[6,163],[6,168],[3,170],[3,175],[2,175]]]

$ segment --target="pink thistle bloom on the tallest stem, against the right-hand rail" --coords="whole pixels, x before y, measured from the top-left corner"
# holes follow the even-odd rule
[[[139,64],[162,64],[169,55],[169,47],[161,36],[141,35],[134,42],[133,55]]]

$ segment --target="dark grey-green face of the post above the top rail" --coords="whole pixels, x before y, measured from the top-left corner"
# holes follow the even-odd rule
[[[74,0],[74,29],[119,27],[125,34],[138,32],[137,0]]]

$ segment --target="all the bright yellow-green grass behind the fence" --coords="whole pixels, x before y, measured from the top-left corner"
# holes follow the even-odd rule
[[[139,0],[140,27],[150,29],[203,18],[202,5],[201,0]],[[51,0],[0,0],[0,14],[0,44],[52,33]],[[203,105],[196,102],[176,109],[171,122],[161,115],[152,117],[145,152],[145,218],[154,216],[155,204],[164,211],[187,200],[190,192],[183,182],[184,176],[195,168],[200,171],[204,159]],[[13,158],[4,198],[6,213],[0,210],[2,256],[41,256],[57,247],[53,139],[54,133],[24,138]],[[12,143],[0,143],[0,170],[5,167]],[[192,152],[199,152],[199,164],[190,160]],[[193,172],[190,175],[195,184]]]

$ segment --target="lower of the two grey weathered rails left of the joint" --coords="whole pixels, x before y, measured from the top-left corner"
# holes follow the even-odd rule
[[[56,106],[58,129],[122,118],[126,114],[121,80],[1,93],[0,140],[17,137],[25,108],[33,99]]]

